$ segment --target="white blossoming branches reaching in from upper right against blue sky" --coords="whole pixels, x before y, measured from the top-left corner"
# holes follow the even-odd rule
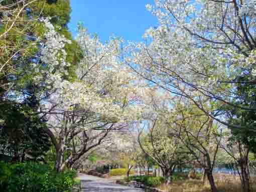
[[[145,33],[146,43],[127,46],[126,63],[151,84],[189,98],[205,114],[232,128],[220,106],[254,111],[237,86],[254,85],[254,1],[155,1],[147,5],[159,26]],[[204,101],[201,101],[202,97]],[[211,110],[204,105],[214,102]],[[229,113],[229,111],[225,111]]]

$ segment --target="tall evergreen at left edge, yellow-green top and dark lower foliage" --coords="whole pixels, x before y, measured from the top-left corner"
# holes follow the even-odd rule
[[[18,16],[21,7],[27,4]],[[33,71],[32,66],[44,66],[39,59],[42,41],[39,37],[45,33],[40,18],[50,18],[56,31],[72,40],[67,28],[70,2],[4,0],[0,6],[6,10],[0,11],[0,149],[1,153],[12,155],[13,160],[24,160],[25,155],[27,159],[38,159],[50,145],[47,134],[43,132],[45,120],[37,113],[41,95],[45,94],[46,89],[44,84],[38,86],[33,80],[37,72]],[[13,27],[9,20],[16,20]],[[9,28],[11,30],[7,31]],[[74,69],[80,57],[76,50],[79,47],[73,40],[65,46],[66,62],[72,65],[68,67],[68,75],[63,74],[63,78],[70,81],[76,78]]]

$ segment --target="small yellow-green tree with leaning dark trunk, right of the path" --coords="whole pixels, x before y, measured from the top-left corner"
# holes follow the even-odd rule
[[[212,191],[217,191],[212,175],[220,148],[222,130],[213,119],[200,113],[196,106],[177,106],[177,113],[170,118],[170,134],[179,138],[190,154],[204,169]]]

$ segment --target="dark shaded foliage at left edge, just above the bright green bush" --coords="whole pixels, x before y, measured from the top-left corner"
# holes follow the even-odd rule
[[[33,159],[45,155],[51,145],[48,135],[43,131],[46,124],[39,116],[33,115],[28,105],[2,102],[0,111],[0,152],[20,156],[26,152]]]

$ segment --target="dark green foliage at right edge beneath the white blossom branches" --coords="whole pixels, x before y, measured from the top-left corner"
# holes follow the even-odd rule
[[[247,108],[255,107],[256,85],[253,83],[240,83],[250,81],[251,78],[252,77],[247,74],[236,78],[238,82],[235,90],[237,97],[231,100],[233,105]],[[240,107],[233,107],[230,105],[223,105],[220,107],[220,110],[229,113],[227,116],[229,124],[243,126],[242,129],[229,127],[232,133],[232,136],[229,138],[229,144],[233,145],[237,141],[240,141],[245,144],[251,152],[256,153],[255,110],[244,110]]]

